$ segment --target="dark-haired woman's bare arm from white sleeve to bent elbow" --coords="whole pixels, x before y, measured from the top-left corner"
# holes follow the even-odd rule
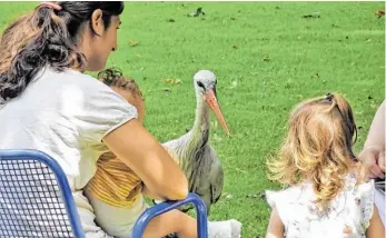
[[[132,119],[103,138],[108,148],[132,169],[158,198],[181,200],[188,181],[164,147]]]

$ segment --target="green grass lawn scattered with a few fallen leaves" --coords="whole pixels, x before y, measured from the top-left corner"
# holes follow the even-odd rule
[[[34,6],[1,2],[1,29]],[[206,16],[188,18],[198,7]],[[209,218],[239,219],[243,237],[263,237],[269,209],[256,195],[277,187],[266,179],[265,160],[279,147],[296,103],[331,91],[346,96],[360,126],[360,150],[385,98],[385,19],[374,14],[384,8],[384,2],[127,2],[119,49],[108,65],[139,82],[146,127],[160,141],[194,123],[192,75],[200,69],[217,75],[232,136],[212,123],[225,196]],[[320,18],[301,18],[311,12]]]

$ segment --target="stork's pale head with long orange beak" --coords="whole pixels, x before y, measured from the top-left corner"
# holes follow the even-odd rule
[[[214,72],[200,70],[194,77],[194,85],[197,97],[204,98],[209,108],[215,112],[217,120],[221,123],[224,130],[229,135],[227,122],[224,119],[220,106],[217,101],[216,85],[217,79]]]

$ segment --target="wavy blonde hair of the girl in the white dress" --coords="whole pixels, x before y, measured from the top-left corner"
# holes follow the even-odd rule
[[[325,208],[343,190],[349,171],[357,171],[358,184],[366,176],[353,152],[356,136],[352,107],[339,95],[304,101],[290,115],[278,159],[267,162],[268,177],[287,186],[310,180],[315,202]]]

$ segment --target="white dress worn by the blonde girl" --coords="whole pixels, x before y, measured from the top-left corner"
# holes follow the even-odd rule
[[[316,212],[311,184],[304,182],[281,191],[266,191],[270,207],[277,208],[286,238],[366,238],[374,211],[374,181],[355,186],[346,176],[345,189],[325,214]]]

